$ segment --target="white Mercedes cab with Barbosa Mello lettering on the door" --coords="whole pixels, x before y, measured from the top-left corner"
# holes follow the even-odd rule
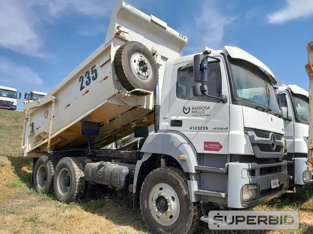
[[[274,74],[237,47],[206,53],[201,65],[194,65],[195,55],[167,61],[160,129],[141,151],[175,156],[194,176],[193,202],[243,209],[282,195],[286,142]],[[194,66],[207,68],[202,95],[195,92]]]

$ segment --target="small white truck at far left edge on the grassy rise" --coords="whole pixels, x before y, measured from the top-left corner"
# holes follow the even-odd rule
[[[15,111],[20,95],[14,88],[0,86],[0,109]]]

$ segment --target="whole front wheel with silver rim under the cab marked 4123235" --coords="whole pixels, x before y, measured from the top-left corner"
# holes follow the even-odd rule
[[[187,179],[182,170],[163,167],[144,180],[140,208],[152,233],[191,234],[197,228],[200,208],[189,199]]]

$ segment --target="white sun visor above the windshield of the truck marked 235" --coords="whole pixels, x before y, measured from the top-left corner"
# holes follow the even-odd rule
[[[244,50],[242,50],[236,46],[225,46],[225,49],[226,49],[227,53],[229,54],[229,56],[231,56],[232,58],[243,59],[247,62],[254,64],[256,67],[260,68],[261,70],[263,70],[270,77],[271,82],[274,85],[277,84],[277,80],[276,80],[273,72],[264,63],[262,63],[259,59],[257,59],[253,55],[249,54],[248,52],[246,52],[246,51],[244,51]]]

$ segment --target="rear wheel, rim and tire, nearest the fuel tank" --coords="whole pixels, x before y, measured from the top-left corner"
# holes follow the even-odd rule
[[[82,198],[85,192],[83,165],[78,158],[62,158],[55,168],[54,195],[66,203]]]

